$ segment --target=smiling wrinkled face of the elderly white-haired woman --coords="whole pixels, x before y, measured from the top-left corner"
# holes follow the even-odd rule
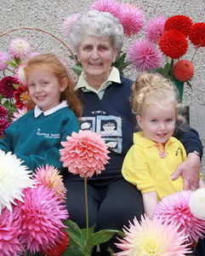
[[[113,49],[111,40],[104,37],[84,35],[77,50],[77,59],[82,63],[83,71],[89,80],[98,76],[98,79],[104,82],[116,56],[117,49]]]

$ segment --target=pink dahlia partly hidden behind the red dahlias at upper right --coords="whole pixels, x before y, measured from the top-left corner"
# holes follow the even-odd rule
[[[146,38],[154,44],[157,44],[159,38],[164,32],[165,17],[156,17],[151,19],[146,25]]]

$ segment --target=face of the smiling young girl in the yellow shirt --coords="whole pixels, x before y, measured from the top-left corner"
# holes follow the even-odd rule
[[[143,108],[137,121],[144,137],[156,142],[166,143],[175,129],[176,112],[174,103],[151,103]]]

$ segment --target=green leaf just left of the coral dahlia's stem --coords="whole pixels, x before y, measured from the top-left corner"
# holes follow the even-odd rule
[[[78,225],[71,221],[71,219],[67,219],[65,222],[65,225],[68,226],[68,229],[65,229],[66,232],[68,232],[69,237],[71,239],[71,243],[73,246],[79,246],[79,247],[85,247],[86,246],[86,239],[83,236],[82,231],[78,227]]]

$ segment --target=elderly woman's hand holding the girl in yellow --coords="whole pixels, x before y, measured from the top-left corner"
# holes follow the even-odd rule
[[[176,171],[172,174],[172,179],[175,180],[179,175],[182,175],[184,180],[184,190],[196,190],[199,188],[200,176],[200,157],[195,153],[190,153],[185,162],[180,164]]]

